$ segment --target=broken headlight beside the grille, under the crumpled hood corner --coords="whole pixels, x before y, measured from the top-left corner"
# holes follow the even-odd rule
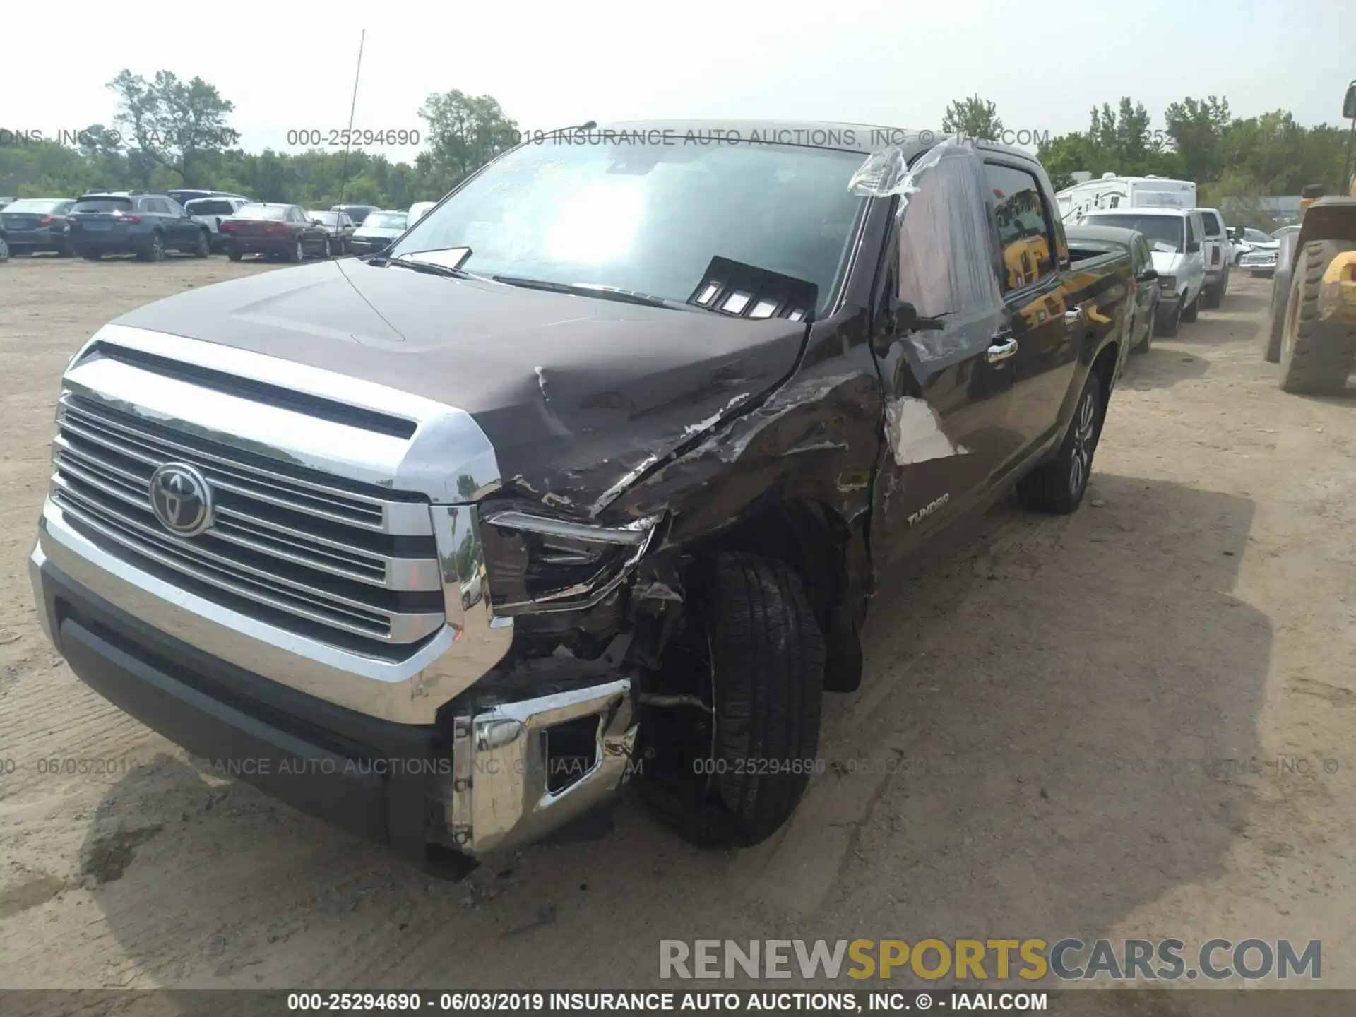
[[[640,561],[660,517],[622,526],[559,519],[514,509],[480,519],[490,595],[496,614],[590,607]]]

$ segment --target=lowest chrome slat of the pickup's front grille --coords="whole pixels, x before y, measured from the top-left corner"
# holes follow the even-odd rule
[[[163,540],[149,527],[127,525],[125,517],[118,517],[103,506],[81,498],[69,485],[58,484],[54,500],[64,513],[72,514],[85,526],[157,564],[308,621],[384,643],[412,643],[431,635],[442,625],[442,617],[435,614],[354,610],[342,602],[320,601],[301,593],[294,594],[290,589],[279,590],[255,582],[250,575],[237,574],[233,568],[217,567],[214,561],[203,560],[191,552],[184,553],[176,541]]]

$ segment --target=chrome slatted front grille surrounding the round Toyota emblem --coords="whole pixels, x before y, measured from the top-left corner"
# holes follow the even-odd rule
[[[348,484],[66,392],[52,498],[142,567],[250,614],[336,643],[419,643],[446,622],[428,503]],[[195,466],[214,523],[178,537],[151,507],[151,476]]]

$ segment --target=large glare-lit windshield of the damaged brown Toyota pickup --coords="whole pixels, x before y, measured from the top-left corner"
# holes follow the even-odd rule
[[[522,145],[392,254],[469,247],[479,275],[679,302],[719,255],[812,282],[826,304],[865,202],[848,190],[861,161],[791,145]]]

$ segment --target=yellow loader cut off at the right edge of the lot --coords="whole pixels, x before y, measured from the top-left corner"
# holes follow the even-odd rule
[[[1342,167],[1347,194],[1325,197],[1318,186],[1300,191],[1299,231],[1281,237],[1272,282],[1267,358],[1275,346],[1285,392],[1341,392],[1356,365],[1356,81],[1347,87],[1342,119],[1351,122]]]

